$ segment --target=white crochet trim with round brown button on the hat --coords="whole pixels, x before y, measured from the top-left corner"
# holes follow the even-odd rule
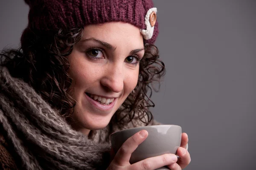
[[[143,35],[145,40],[152,38],[154,33],[154,24],[157,20],[157,8],[150,8],[145,16],[146,29],[141,29],[140,33]]]

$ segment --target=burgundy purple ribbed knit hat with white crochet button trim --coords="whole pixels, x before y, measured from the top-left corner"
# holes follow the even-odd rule
[[[141,29],[146,43],[158,34],[157,8],[152,0],[25,0],[29,5],[28,28],[58,30],[89,24],[122,21]]]

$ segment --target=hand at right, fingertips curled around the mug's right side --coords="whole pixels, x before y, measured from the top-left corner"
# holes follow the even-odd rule
[[[182,170],[190,163],[191,158],[189,155],[189,151],[185,149],[188,142],[188,135],[186,133],[182,133],[181,144],[177,150],[177,156],[179,156],[180,158],[178,159],[177,163],[168,165],[171,170]]]

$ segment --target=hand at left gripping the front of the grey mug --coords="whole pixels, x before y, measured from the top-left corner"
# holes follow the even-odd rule
[[[113,158],[113,161],[111,161],[107,170],[155,170],[157,168],[176,163],[177,156],[175,154],[164,154],[130,164],[129,160],[131,158],[131,154],[147,137],[148,132],[146,130],[141,130],[127,139],[115,156],[113,149],[111,149],[111,157]]]

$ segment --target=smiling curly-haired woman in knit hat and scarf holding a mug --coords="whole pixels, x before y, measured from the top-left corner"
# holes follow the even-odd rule
[[[0,162],[3,169],[180,170],[184,147],[135,164],[142,130],[111,152],[109,135],[159,125],[149,84],[163,76],[151,0],[25,0],[21,47],[1,54]]]

